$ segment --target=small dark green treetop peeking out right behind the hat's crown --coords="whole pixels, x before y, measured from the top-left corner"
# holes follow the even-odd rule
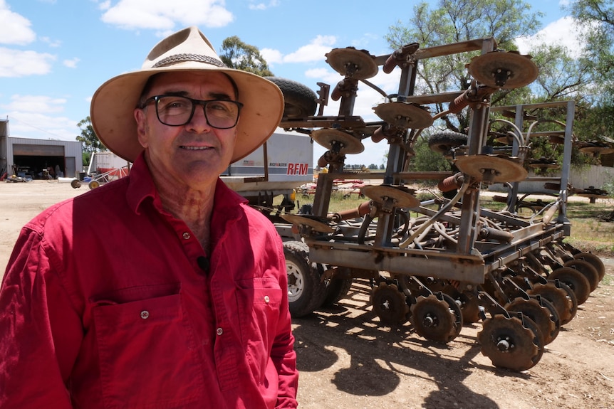
[[[222,58],[222,62],[230,68],[248,71],[261,77],[273,76],[259,49],[244,43],[237,36],[222,41],[222,53],[219,54],[219,58]]]

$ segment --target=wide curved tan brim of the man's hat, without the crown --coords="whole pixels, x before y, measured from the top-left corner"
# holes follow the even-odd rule
[[[90,119],[94,132],[105,147],[121,158],[134,162],[143,147],[138,141],[133,112],[147,80],[157,73],[212,70],[229,75],[239,90],[243,104],[236,125],[236,142],[231,162],[244,158],[260,147],[278,127],[283,115],[283,95],[265,78],[231,68],[193,66],[151,68],[111,78],[92,97]]]

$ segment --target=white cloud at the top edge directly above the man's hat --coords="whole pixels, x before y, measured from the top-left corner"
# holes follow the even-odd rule
[[[100,4],[102,20],[126,29],[174,30],[179,26],[223,27],[233,21],[224,0],[120,0],[115,6]]]

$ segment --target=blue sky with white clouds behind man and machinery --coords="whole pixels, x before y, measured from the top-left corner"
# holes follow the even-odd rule
[[[563,0],[566,1],[566,0]],[[539,41],[577,47],[561,0],[531,1],[543,11]],[[538,3],[538,4],[537,4]],[[106,80],[140,68],[164,36],[199,26],[217,48],[224,38],[261,50],[276,76],[318,88],[341,79],[326,63],[333,48],[354,46],[390,53],[388,28],[406,22],[417,0],[0,0],[0,118],[11,137],[75,140],[90,98]],[[521,40],[523,47],[535,38]],[[526,52],[526,51],[525,51]],[[396,91],[397,70],[370,81]],[[376,93],[359,90],[355,115],[375,120]],[[325,115],[336,115],[332,101]],[[324,152],[314,145],[314,161]],[[365,140],[347,164],[382,164],[385,141]]]

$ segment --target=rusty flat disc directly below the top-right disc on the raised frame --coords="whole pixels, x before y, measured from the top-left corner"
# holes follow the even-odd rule
[[[490,154],[460,156],[454,164],[462,173],[479,181],[491,183],[522,181],[528,174],[518,161],[507,156]]]

